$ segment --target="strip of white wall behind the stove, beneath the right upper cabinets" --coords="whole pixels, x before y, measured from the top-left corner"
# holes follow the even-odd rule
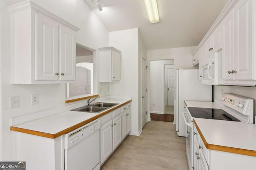
[[[224,93],[233,93],[240,96],[246,96],[254,100],[254,116],[256,116],[256,87],[244,86],[213,86],[214,98],[221,100],[222,89]]]

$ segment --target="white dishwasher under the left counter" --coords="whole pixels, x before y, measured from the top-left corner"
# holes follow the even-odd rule
[[[100,169],[100,119],[64,135],[65,170]]]

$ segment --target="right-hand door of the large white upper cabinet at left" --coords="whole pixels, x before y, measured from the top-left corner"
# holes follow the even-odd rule
[[[76,80],[76,32],[60,26],[60,80]]]

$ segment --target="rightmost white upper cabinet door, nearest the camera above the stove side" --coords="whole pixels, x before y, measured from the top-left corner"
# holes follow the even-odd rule
[[[252,0],[241,0],[235,8],[236,79],[252,79]]]

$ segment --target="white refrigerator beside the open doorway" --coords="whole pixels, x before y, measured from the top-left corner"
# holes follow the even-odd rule
[[[186,125],[182,117],[185,111],[184,100],[212,102],[212,85],[205,85],[199,81],[198,69],[176,70],[174,84],[174,123],[178,136],[186,137]]]

